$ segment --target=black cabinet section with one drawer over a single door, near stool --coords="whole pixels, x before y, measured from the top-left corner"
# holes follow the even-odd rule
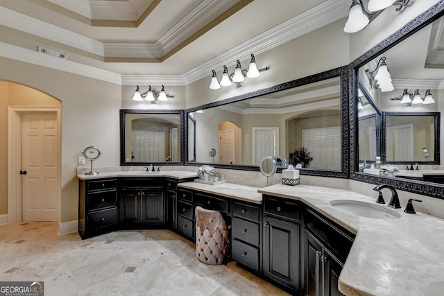
[[[287,290],[300,290],[298,202],[264,196],[264,277]]]

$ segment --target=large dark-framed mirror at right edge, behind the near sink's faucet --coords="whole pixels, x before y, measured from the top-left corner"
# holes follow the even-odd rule
[[[427,171],[433,171],[433,174],[438,176],[442,173],[440,178],[444,178],[439,157],[443,149],[439,143],[439,118],[441,110],[444,109],[442,104],[439,104],[441,102],[438,102],[442,101],[441,97],[444,96],[444,63],[441,62],[443,53],[440,45],[441,40],[444,40],[443,15],[444,3],[440,1],[350,63],[349,91],[350,98],[355,98],[350,99],[350,178],[373,184],[391,184],[404,191],[444,198],[444,186],[441,182],[426,177]],[[377,73],[375,69],[381,59],[389,69],[393,90],[391,87],[382,87],[377,80],[373,83],[369,79],[371,72]],[[418,163],[419,173],[416,173],[418,175],[414,178],[407,176],[405,172],[383,175],[383,172],[365,173],[360,169],[364,157],[361,154],[360,146],[363,143],[360,138],[363,133],[368,133],[368,130],[361,125],[359,116],[359,81],[382,111],[379,136],[382,164],[393,164],[402,171],[406,169],[407,164]],[[402,100],[404,94],[407,94],[410,101],[413,101],[416,89],[420,95],[419,104]],[[426,94],[431,94],[435,103],[422,104]],[[412,144],[407,146],[407,142],[404,143],[405,149],[395,155],[393,145],[400,139],[394,138],[403,137],[402,134],[405,135],[406,130],[402,128],[406,126],[409,126],[409,134],[413,139],[404,141]],[[421,126],[422,130],[415,130],[416,126]],[[418,145],[421,147],[418,148]],[[429,154],[427,159],[422,148],[426,148]],[[414,166],[415,170],[416,167]]]

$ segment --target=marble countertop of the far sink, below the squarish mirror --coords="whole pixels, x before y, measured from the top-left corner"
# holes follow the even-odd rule
[[[85,173],[78,173],[80,180],[94,180],[108,177],[170,177],[172,179],[185,179],[189,177],[198,177],[195,172],[188,171],[160,171],[160,172],[146,172],[146,171],[114,171],[101,172],[97,175],[85,175]]]

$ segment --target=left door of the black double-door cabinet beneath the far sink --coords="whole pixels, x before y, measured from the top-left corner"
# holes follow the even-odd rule
[[[120,200],[120,220],[122,223],[140,223],[142,191],[139,189],[122,189]]]

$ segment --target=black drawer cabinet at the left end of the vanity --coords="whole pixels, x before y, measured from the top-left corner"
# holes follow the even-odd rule
[[[78,234],[89,238],[117,229],[117,179],[80,180]]]

